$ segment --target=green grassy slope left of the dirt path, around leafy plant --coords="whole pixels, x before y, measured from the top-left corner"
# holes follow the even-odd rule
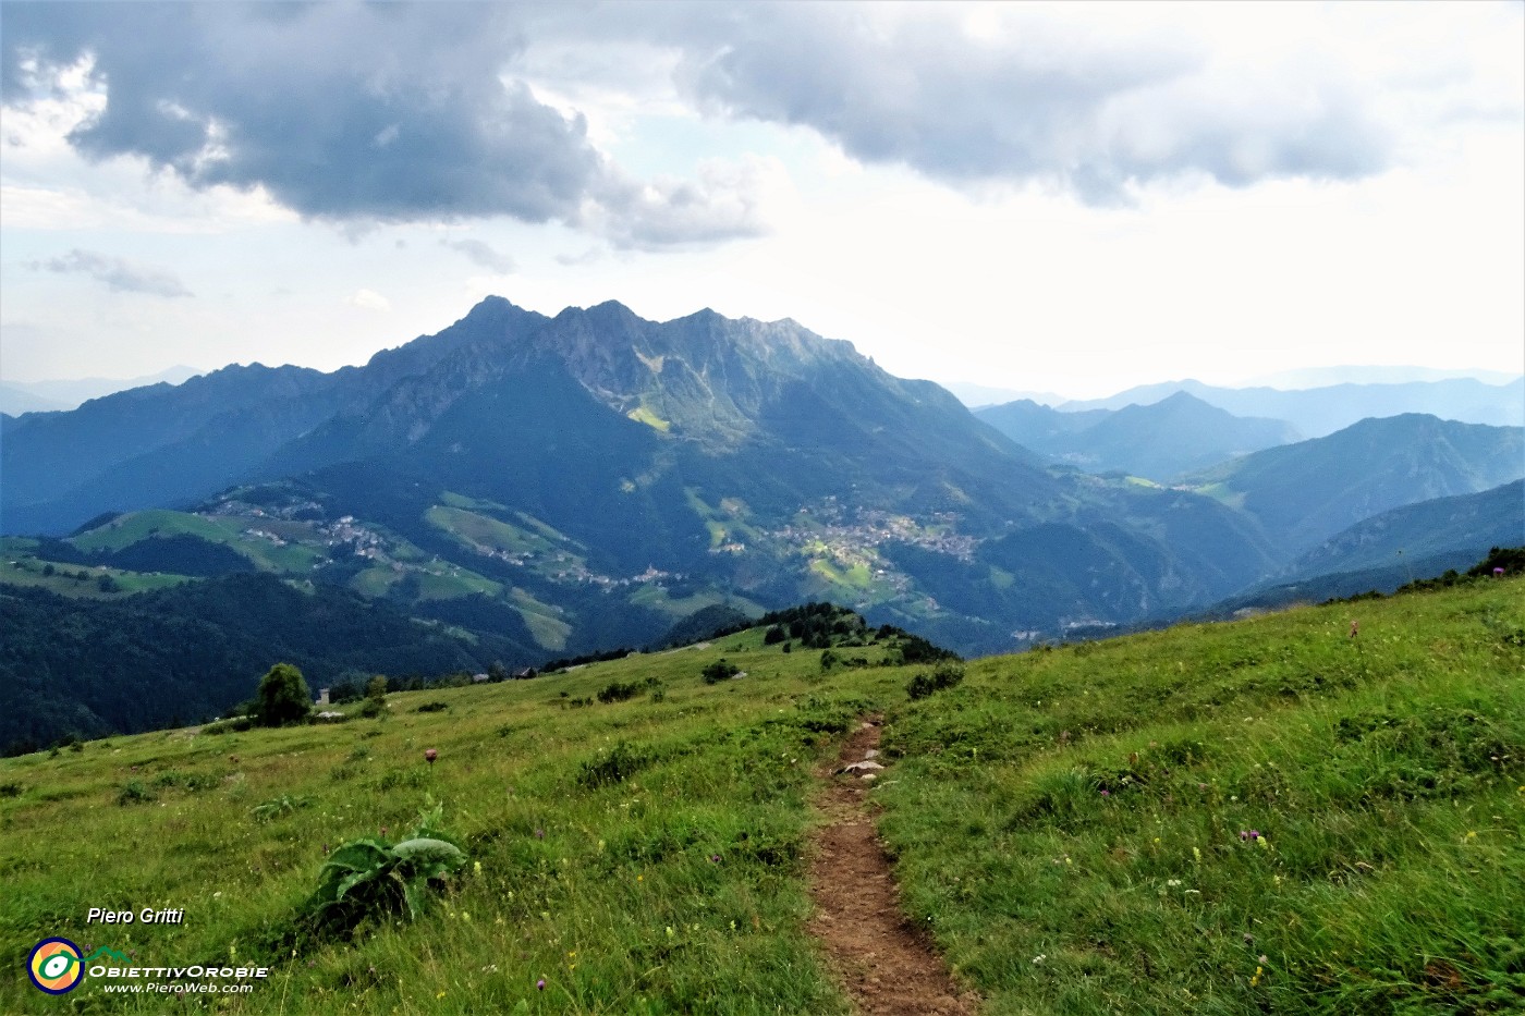
[[[706,686],[700,670],[720,651],[747,677]],[[229,1011],[845,1011],[804,934],[810,772],[833,731],[901,694],[909,671],[859,671],[851,686],[819,671],[819,653],[764,651],[752,632],[564,677],[396,694],[384,720],[6,760],[0,787],[20,795],[0,790],[0,963],[17,970],[38,938],[64,935],[145,963],[276,966],[271,984],[221,999]],[[647,677],[663,682],[660,702],[644,688],[570,705]],[[448,711],[416,712],[435,700]],[[433,769],[424,748],[439,751]],[[580,781],[615,752],[637,760],[627,781]],[[119,804],[134,780],[152,799]],[[419,924],[290,957],[279,943],[323,847],[395,833],[430,795],[480,873]],[[250,810],[281,796],[303,807],[256,822]],[[185,906],[186,923],[84,924],[90,906],[148,905]],[[78,993],[107,1002],[90,984]],[[59,1008],[24,979],[0,981],[0,1011]]]

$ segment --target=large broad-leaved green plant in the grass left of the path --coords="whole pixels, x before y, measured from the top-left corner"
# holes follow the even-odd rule
[[[419,813],[396,842],[355,839],[339,847],[319,871],[317,889],[303,912],[320,932],[348,932],[366,918],[415,920],[430,888],[442,886],[467,856],[441,830],[442,805]]]

